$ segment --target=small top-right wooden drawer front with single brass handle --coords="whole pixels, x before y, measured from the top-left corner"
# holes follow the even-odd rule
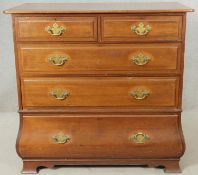
[[[181,16],[104,16],[103,41],[181,40]]]

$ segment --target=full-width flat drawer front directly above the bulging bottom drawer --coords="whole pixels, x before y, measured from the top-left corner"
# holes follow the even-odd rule
[[[22,103],[28,107],[176,107],[177,78],[24,78]]]

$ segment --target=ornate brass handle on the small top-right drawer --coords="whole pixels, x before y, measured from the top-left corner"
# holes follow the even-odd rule
[[[139,36],[144,36],[152,31],[152,27],[149,25],[145,26],[145,24],[141,22],[138,24],[138,26],[131,26],[131,31]]]

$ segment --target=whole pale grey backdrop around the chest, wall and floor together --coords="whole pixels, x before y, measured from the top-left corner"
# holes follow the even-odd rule
[[[182,125],[186,140],[186,152],[181,159],[182,175],[198,172],[198,0],[124,0],[124,2],[177,1],[195,9],[188,13],[186,32],[185,72]],[[122,0],[0,0],[0,11],[24,2],[123,2]],[[17,92],[15,81],[14,50],[10,15],[0,13],[0,170],[3,175],[19,175],[22,161],[15,151],[19,127]],[[171,136],[170,136],[171,137]],[[154,168],[138,167],[67,167],[44,169],[39,175],[164,175]],[[174,175],[174,174],[173,174]]]

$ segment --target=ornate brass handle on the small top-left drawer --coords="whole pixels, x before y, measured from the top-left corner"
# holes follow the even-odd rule
[[[53,36],[60,36],[66,31],[66,29],[63,26],[59,26],[57,23],[54,23],[52,26],[47,26],[45,31]]]

